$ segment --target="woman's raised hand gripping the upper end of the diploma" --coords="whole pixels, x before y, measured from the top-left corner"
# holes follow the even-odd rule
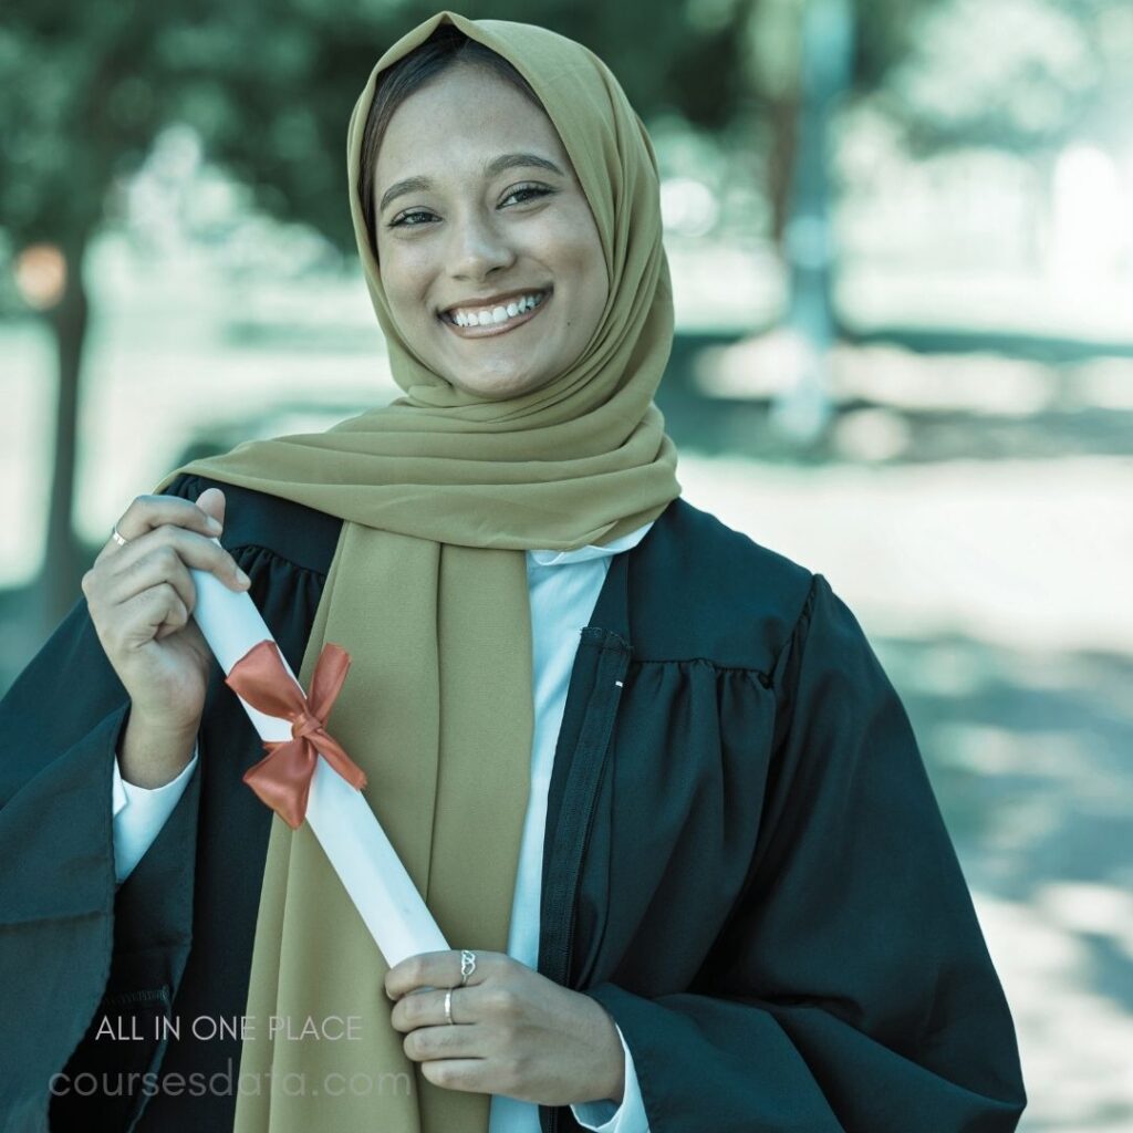
[[[206,488],[196,503],[143,495],[118,520],[118,534],[83,576],[99,640],[130,696],[131,722],[151,732],[195,734],[204,710],[212,651],[190,616],[196,587],[189,568],[212,571],[229,589],[247,576],[215,542],[224,493]]]

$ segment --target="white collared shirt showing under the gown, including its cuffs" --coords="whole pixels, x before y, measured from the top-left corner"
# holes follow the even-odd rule
[[[651,522],[646,523],[604,547],[587,545],[577,551],[527,552],[535,736],[531,744],[531,787],[520,843],[508,955],[535,970],[539,957],[547,789],[579,634],[594,613],[612,557],[637,546],[651,526]],[[181,798],[196,761],[197,753],[194,751],[177,778],[152,791],[126,783],[114,761],[114,874],[119,883],[153,844]],[[571,1109],[579,1124],[597,1133],[649,1133],[633,1058],[621,1028],[617,1028],[617,1037],[625,1054],[625,1092],[621,1106],[612,1101],[588,1101],[571,1106]],[[538,1106],[493,1094],[488,1133],[539,1133]]]

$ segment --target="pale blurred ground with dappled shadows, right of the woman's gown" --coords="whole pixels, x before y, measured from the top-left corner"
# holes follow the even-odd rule
[[[821,571],[909,709],[1012,1004],[1025,1133],[1133,1133],[1133,466],[683,455]]]

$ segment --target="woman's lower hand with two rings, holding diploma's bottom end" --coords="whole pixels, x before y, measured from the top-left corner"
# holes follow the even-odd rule
[[[462,987],[460,952],[423,952],[386,972],[385,993],[406,1054],[434,1085],[543,1106],[621,1105],[625,1056],[606,1010],[504,953],[477,952]]]

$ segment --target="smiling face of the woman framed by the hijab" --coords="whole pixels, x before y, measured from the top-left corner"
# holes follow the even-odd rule
[[[435,373],[489,400],[579,357],[608,295],[589,205],[551,119],[458,65],[394,111],[374,212],[393,317]]]

